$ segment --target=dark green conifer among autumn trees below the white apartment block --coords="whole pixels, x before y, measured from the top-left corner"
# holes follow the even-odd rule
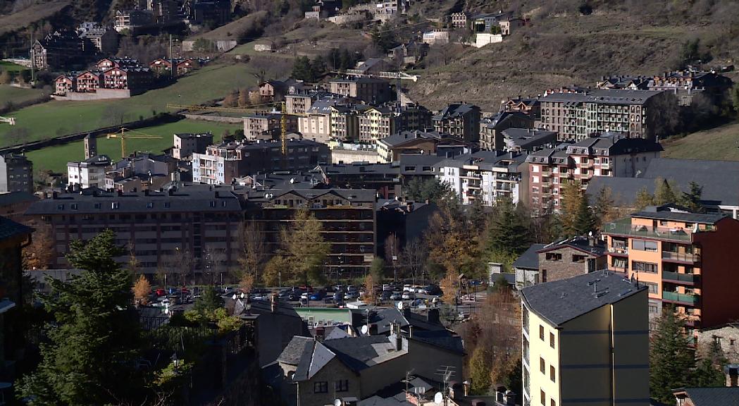
[[[488,228],[491,253],[522,254],[531,246],[531,232],[510,197],[498,197],[496,214]]]

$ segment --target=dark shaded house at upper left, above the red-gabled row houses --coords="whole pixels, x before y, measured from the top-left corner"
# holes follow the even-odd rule
[[[86,60],[84,40],[74,31],[54,31],[36,40],[30,50],[33,67],[58,70],[79,65]]]

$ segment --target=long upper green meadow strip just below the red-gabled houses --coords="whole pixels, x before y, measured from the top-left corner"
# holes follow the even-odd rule
[[[212,64],[180,78],[176,84],[132,98],[107,101],[50,101],[12,113],[16,126],[0,124],[0,146],[53,138],[123,121],[135,121],[166,104],[200,104],[222,98],[234,88],[254,83],[248,64]]]

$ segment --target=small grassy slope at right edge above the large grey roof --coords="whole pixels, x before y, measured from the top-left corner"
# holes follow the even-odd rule
[[[739,160],[739,122],[662,141],[663,158]]]

